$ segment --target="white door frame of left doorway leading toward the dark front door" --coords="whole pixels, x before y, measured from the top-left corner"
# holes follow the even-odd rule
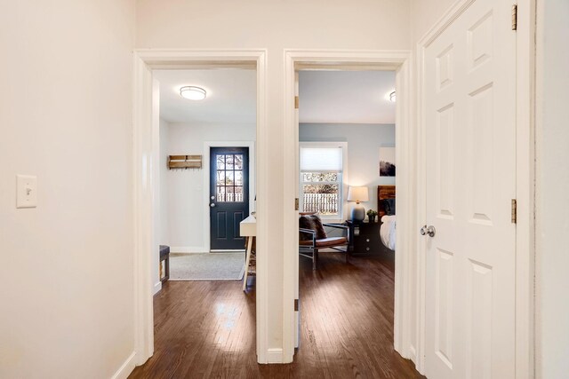
[[[257,360],[267,362],[268,350],[268,223],[262,222],[268,208],[267,51],[265,49],[193,50],[139,49],[133,52],[132,99],[132,218],[134,266],[134,352],[142,365],[154,353],[152,257],[157,248],[154,214],[158,193],[158,117],[153,113],[154,69],[215,67],[255,68],[257,73]],[[156,99],[155,103],[156,103]],[[156,106],[156,104],[154,104]]]

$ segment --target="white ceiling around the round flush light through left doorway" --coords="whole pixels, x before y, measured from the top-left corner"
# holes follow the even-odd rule
[[[160,83],[160,117],[167,122],[254,123],[257,78],[254,69],[155,70]],[[207,91],[204,100],[180,96],[180,87]]]

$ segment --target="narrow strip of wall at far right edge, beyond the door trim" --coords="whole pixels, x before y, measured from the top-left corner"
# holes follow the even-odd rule
[[[539,1],[536,96],[536,374],[569,373],[569,2]]]

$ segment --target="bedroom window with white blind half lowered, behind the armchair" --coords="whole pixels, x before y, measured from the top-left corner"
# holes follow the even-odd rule
[[[300,146],[300,211],[340,217],[343,146]]]

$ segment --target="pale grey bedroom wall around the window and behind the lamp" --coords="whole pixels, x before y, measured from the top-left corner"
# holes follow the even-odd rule
[[[370,201],[365,209],[377,210],[377,186],[395,186],[395,177],[380,177],[379,151],[381,146],[395,146],[395,125],[369,123],[301,123],[301,141],[348,142],[348,186],[367,186]],[[353,205],[344,202],[348,211]],[[345,212],[346,213],[346,212]],[[345,216],[346,217],[346,214]]]

